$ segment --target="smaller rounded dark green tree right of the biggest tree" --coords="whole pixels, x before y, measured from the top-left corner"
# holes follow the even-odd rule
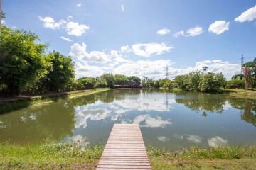
[[[51,67],[43,80],[43,84],[49,91],[68,90],[68,85],[75,78],[74,64],[71,57],[53,51],[47,56],[47,60],[51,63]]]

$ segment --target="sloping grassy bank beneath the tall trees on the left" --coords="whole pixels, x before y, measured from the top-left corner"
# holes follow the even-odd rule
[[[43,104],[52,103],[60,98],[71,99],[81,96],[95,94],[101,91],[107,91],[109,88],[97,88],[82,91],[69,91],[60,93],[43,94],[41,96],[18,96],[14,98],[0,98],[0,114],[16,109],[41,106]]]

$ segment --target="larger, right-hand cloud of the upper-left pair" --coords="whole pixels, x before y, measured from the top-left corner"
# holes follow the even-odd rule
[[[73,21],[70,21],[66,25],[66,32],[68,35],[75,35],[77,37],[81,36],[83,33],[85,33],[85,30],[88,30],[89,26],[85,24],[79,24],[75,23]]]

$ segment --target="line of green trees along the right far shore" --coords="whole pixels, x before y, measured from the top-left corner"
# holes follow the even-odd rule
[[[223,88],[228,89],[253,89],[256,87],[256,58],[243,65],[244,71],[247,73],[236,74],[231,80],[226,80],[222,73],[207,72],[207,67],[203,67],[205,72],[190,72],[188,74],[179,75],[170,79],[142,79],[142,86],[156,87],[160,89],[180,89],[182,91],[201,91],[201,92],[218,92]],[[247,87],[246,88],[246,76]]]

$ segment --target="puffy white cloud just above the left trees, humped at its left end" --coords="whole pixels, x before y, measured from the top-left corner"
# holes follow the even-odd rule
[[[107,55],[100,51],[86,51],[85,43],[82,45],[75,43],[71,46],[69,55],[77,61],[90,61],[90,62],[105,62],[107,61]]]

